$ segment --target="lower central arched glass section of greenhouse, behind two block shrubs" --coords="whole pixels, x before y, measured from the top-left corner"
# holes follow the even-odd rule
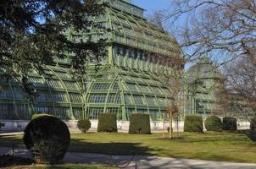
[[[92,80],[86,112],[90,119],[109,112],[117,114],[119,120],[129,120],[132,113],[146,113],[152,120],[160,120],[170,100],[170,90],[156,77],[113,68]]]

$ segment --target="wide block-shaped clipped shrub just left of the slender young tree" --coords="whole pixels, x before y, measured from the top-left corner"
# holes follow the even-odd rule
[[[129,134],[151,134],[148,114],[132,114],[130,117]]]

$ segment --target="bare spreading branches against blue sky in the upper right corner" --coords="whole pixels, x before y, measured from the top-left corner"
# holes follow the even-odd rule
[[[171,3],[173,10],[165,11],[162,20],[170,19],[180,27],[173,33],[187,58],[221,53],[217,60],[226,61],[249,54],[254,48],[255,0],[172,0]]]

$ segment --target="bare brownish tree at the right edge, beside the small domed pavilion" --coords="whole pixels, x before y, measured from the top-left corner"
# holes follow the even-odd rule
[[[226,88],[231,95],[232,112],[242,112],[245,117],[256,114],[255,60],[256,57],[244,55],[225,67]]]

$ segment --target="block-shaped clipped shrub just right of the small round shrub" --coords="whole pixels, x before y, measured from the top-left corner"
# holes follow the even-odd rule
[[[97,132],[117,132],[116,115],[110,113],[102,113],[98,117]]]

